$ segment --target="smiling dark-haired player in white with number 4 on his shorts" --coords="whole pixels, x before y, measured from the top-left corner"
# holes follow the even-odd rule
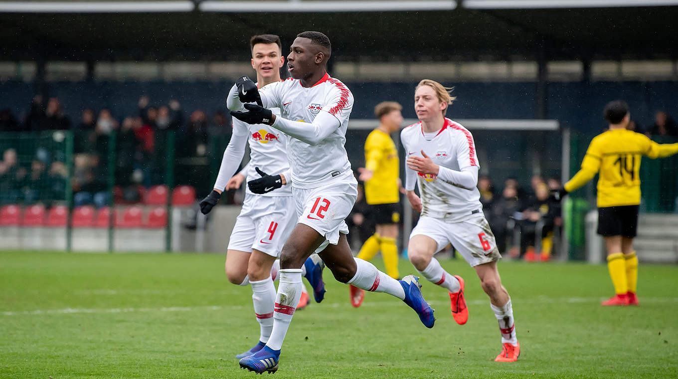
[[[252,68],[256,71],[258,85],[264,87],[280,81],[280,68],[285,64],[281,52],[280,37],[277,35],[255,35],[250,39]],[[274,109],[279,114],[278,109]],[[233,120],[233,136],[228,142],[222,159],[214,190],[200,202],[203,214],[212,210],[225,188],[231,188],[237,178],[231,178],[245,154],[245,144],[250,144],[250,163],[241,170],[250,180],[259,178],[257,167],[281,174],[284,182],[290,165],[287,163],[285,136],[268,125],[248,125]],[[229,180],[228,178],[231,178]],[[228,182],[227,182],[228,181]],[[238,216],[226,252],[226,277],[236,285],[251,285],[254,313],[260,324],[259,342],[250,350],[237,355],[238,359],[260,351],[273,330],[273,306],[275,286],[273,280],[279,270],[279,256],[283,243],[292,233],[297,216],[290,188],[275,193],[254,194],[245,192],[245,201]],[[322,281],[323,262],[317,255],[302,266],[304,275],[314,287],[314,296],[320,302],[325,293]],[[302,290],[305,290],[302,286]],[[300,300],[302,306],[308,304]]]

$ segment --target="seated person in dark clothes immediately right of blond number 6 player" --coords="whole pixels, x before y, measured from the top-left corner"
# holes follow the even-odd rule
[[[506,239],[511,238],[511,248],[509,254],[511,258],[516,258],[519,254],[519,247],[515,246],[516,241],[513,241],[513,230],[509,230],[506,226],[509,220],[515,220],[516,214],[520,214],[523,210],[523,202],[518,197],[518,190],[515,185],[504,186],[502,197],[498,199],[492,206],[492,224],[496,226],[497,247],[500,252],[506,252]],[[494,231],[493,231],[494,232]]]

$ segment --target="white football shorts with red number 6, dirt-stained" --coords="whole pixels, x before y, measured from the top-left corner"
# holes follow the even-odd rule
[[[410,239],[416,235],[434,239],[438,244],[435,252],[443,250],[447,243],[452,243],[471,267],[502,258],[490,224],[482,212],[472,214],[460,222],[445,222],[439,218],[422,216],[412,229]]]

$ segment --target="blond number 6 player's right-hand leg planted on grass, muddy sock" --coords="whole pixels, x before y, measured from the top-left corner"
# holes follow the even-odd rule
[[[489,262],[475,266],[480,284],[487,296],[490,296],[490,307],[499,321],[499,330],[502,333],[502,352],[494,361],[515,362],[520,355],[520,344],[515,334],[515,322],[513,321],[513,306],[509,292],[502,285],[497,262]]]

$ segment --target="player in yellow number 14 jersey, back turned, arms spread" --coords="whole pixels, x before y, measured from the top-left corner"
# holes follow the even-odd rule
[[[593,138],[582,168],[554,195],[561,199],[599,173],[598,234],[605,239],[607,268],[616,293],[602,304],[638,305],[638,258],[633,251],[633,237],[640,204],[640,161],[643,155],[656,159],[678,153],[678,143],[658,144],[643,134],[626,130],[631,115],[623,101],[607,104],[603,117],[610,129]]]

